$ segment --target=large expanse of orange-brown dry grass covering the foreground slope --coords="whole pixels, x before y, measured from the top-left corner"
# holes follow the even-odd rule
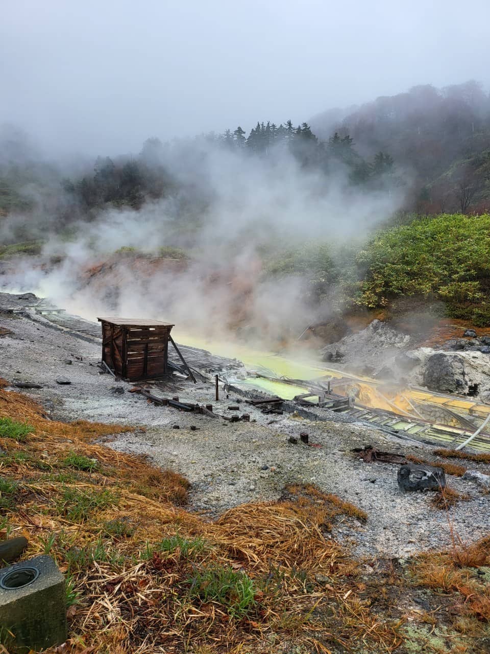
[[[22,443],[0,439],[0,474],[17,484],[0,528],[25,534],[25,556],[50,554],[69,580],[76,603],[64,654],[327,654],[400,644],[398,622],[380,619],[361,596],[357,561],[323,535],[336,515],[365,519],[355,506],[305,485],[301,502],[246,504],[206,522],[176,506],[186,498],[183,477],[90,442],[127,428],[50,421],[5,390],[0,416],[35,427]],[[96,467],[67,466],[70,453]],[[235,586],[206,599],[220,574]]]

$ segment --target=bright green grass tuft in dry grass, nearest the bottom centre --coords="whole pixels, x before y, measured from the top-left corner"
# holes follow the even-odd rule
[[[218,602],[238,620],[257,606],[255,594],[259,589],[253,580],[244,572],[236,572],[230,567],[214,566],[196,570],[186,583],[189,584],[190,600],[199,600],[203,604]]]

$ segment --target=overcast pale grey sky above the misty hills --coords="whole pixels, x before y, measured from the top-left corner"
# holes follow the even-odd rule
[[[490,0],[1,0],[0,123],[56,151],[298,123],[470,78]]]

